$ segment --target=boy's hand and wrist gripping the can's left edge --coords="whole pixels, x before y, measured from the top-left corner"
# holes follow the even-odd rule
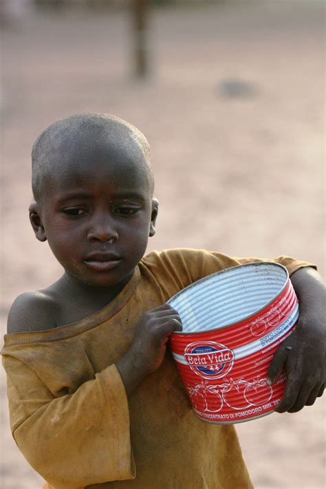
[[[160,305],[142,314],[131,348],[116,363],[127,394],[160,367],[173,331],[182,331],[182,323],[171,305]]]

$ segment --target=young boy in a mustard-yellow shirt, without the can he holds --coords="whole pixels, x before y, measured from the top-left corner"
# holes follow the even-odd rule
[[[144,257],[158,208],[149,146],[118,118],[55,122],[32,163],[30,221],[64,273],[19,296],[8,318],[10,424],[26,459],[56,489],[251,488],[235,428],[193,415],[166,349],[182,329],[166,301],[257,259],[190,249]],[[323,392],[323,285],[309,263],[276,261],[292,274],[301,318],[269,376],[285,367],[278,411],[294,412]]]

